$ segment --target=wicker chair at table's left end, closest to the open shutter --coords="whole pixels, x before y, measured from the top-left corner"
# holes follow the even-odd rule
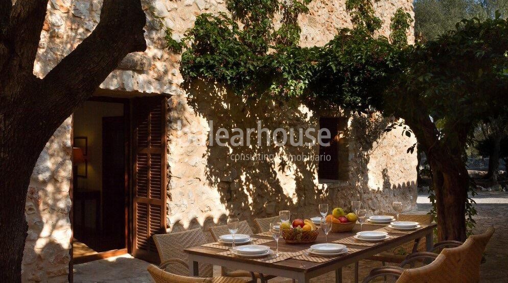
[[[153,236],[159,253],[161,269],[177,275],[189,274],[187,266],[189,257],[184,249],[206,244],[206,237],[201,228],[177,233],[157,234]],[[199,265],[199,275],[212,277],[214,270],[210,264]]]

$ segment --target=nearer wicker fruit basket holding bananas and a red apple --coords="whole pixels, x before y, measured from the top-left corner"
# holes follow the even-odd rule
[[[281,224],[282,238],[287,244],[309,244],[316,241],[319,231],[309,219],[295,219]]]

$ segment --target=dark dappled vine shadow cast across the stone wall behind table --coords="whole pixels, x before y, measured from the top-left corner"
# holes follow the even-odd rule
[[[370,162],[370,152],[376,149],[375,146],[379,144],[377,141],[383,139],[383,131],[392,119],[376,114],[341,114],[338,109],[331,109],[330,106],[322,107],[326,109],[309,110],[298,100],[244,100],[233,92],[202,81],[194,82],[186,89],[189,93],[188,106],[197,116],[213,121],[214,133],[217,133],[219,128],[225,128],[231,137],[236,134],[232,131],[233,128],[240,128],[244,132],[247,128],[255,129],[250,135],[251,146],[234,146],[229,138],[222,139],[227,146],[219,146],[216,141],[211,145],[212,141],[207,139],[206,153],[202,156],[206,160],[206,185],[210,190],[218,190],[220,202],[225,205],[229,216],[246,219],[250,224],[253,223],[253,218],[274,216],[283,209],[291,211],[292,219],[312,217],[318,215],[318,203],[328,202],[333,207],[341,206],[349,210],[351,200],[356,199],[369,202],[369,209],[374,211],[378,210],[377,199],[390,196],[390,191],[411,186],[388,184],[387,178],[388,183],[380,190],[371,190],[368,187],[367,164]],[[185,111],[172,109],[172,115],[184,117]],[[319,130],[317,113],[323,116],[345,115],[351,123],[349,131],[345,133],[350,141],[349,179],[334,182],[337,186],[333,188],[318,183],[318,160],[294,158],[317,156],[319,145],[292,146],[288,143],[286,146],[279,146],[273,141],[266,145],[266,134],[262,133],[263,146],[258,146],[258,121],[262,121],[262,127],[271,131],[283,128],[289,133],[289,129],[293,128],[294,140],[298,141],[299,128],[302,128],[304,133],[311,127],[316,128],[316,132]],[[176,121],[177,119],[173,119],[173,122]],[[186,119],[181,121],[185,127]],[[281,142],[283,135],[279,134],[276,139]],[[317,136],[317,133],[314,133],[314,136]],[[240,140],[236,139],[233,143],[238,141]],[[304,141],[308,142],[310,139]],[[244,142],[246,143],[246,140]],[[255,158],[241,159],[242,156]],[[384,201],[383,205],[386,203],[387,201]],[[226,215],[221,215],[218,222],[224,224],[226,218]],[[213,222],[212,218],[207,218],[203,226],[206,228],[213,225]],[[190,223],[176,224],[171,230],[180,230],[182,225],[193,228],[199,224],[194,218]]]

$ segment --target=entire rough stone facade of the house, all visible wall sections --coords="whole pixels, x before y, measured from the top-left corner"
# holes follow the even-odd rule
[[[101,85],[115,95],[166,94],[168,115],[168,223],[169,230],[209,226],[226,215],[253,217],[273,215],[290,208],[295,215],[315,215],[317,203],[348,206],[363,199],[371,211],[389,209],[394,198],[414,205],[415,154],[406,153],[414,138],[400,130],[383,133],[387,120],[342,111],[308,109],[292,101],[287,104],[244,105],[218,86],[196,83],[182,90],[179,55],[165,48],[166,29],[179,40],[192,27],[196,15],[225,11],[224,0],[142,0],[147,14],[147,50],[129,55]],[[383,19],[381,33],[388,35],[389,18],[402,7],[412,15],[409,0],[375,3]],[[69,54],[99,21],[101,0],[51,0],[41,33],[34,73],[47,74]],[[323,45],[336,28],[350,27],[344,0],[314,0],[310,13],[300,18],[301,44]],[[413,41],[412,31],[409,34]],[[225,102],[225,103],[222,103]],[[266,109],[271,113],[266,113]],[[245,119],[245,113],[253,116]],[[344,139],[349,144],[347,181],[319,183],[316,162],[288,162],[291,154],[318,152],[318,147],[260,147],[256,152],[274,153],[274,162],[233,162],[230,153],[247,148],[208,147],[208,121],[225,128],[251,127],[258,119],[269,127],[317,126],[320,115],[341,115],[348,120]],[[238,125],[237,125],[238,124]],[[181,127],[181,128],[180,128]],[[71,119],[55,132],[39,157],[31,179],[26,215],[28,238],[22,266],[24,281],[65,281],[70,261],[71,207]],[[411,200],[411,196],[413,199]]]

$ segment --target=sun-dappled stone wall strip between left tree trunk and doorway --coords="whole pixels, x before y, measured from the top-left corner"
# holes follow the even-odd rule
[[[28,236],[22,281],[64,282],[71,260],[71,118],[58,128],[35,165],[25,208]]]

